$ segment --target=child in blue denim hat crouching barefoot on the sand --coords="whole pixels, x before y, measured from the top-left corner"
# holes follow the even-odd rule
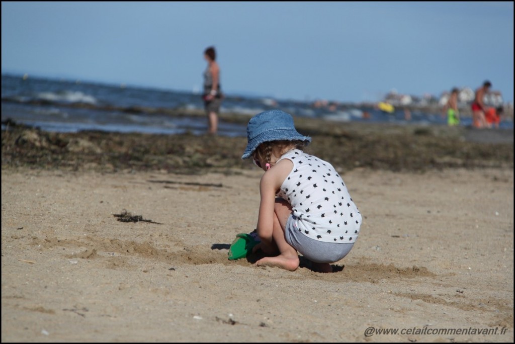
[[[301,253],[320,272],[345,257],[356,242],[362,216],[334,167],[303,152],[311,137],[295,129],[293,118],[270,110],[247,125],[247,148],[265,170],[260,182],[257,232],[266,255],[256,265],[294,271]]]

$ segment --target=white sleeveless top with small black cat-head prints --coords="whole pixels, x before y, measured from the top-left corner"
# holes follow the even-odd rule
[[[361,213],[334,167],[299,149],[288,151],[278,161],[282,159],[293,162],[293,169],[277,195],[290,203],[296,229],[322,242],[354,243]]]

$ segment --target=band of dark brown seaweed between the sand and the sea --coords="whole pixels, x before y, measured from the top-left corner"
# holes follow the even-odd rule
[[[357,122],[329,125],[298,117],[295,121],[300,133],[312,136],[306,152],[329,161],[341,171],[513,168],[513,129]],[[195,175],[257,168],[241,159],[247,137],[101,131],[53,133],[12,122],[7,127],[8,130],[2,130],[2,169],[28,167],[101,173],[158,170]]]

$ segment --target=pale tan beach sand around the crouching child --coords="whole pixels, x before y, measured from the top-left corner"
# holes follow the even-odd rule
[[[3,169],[2,341],[513,341],[512,168],[340,173],[364,222],[322,274],[227,259],[257,168]]]

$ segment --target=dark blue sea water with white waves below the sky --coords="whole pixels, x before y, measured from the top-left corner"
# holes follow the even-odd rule
[[[169,114],[170,110],[202,109],[201,95],[193,92],[2,75],[2,129],[4,122],[11,119],[54,132],[203,134],[207,130],[207,118]],[[402,110],[386,114],[373,106],[349,104],[330,109],[315,107],[307,101],[231,94],[226,94],[220,112],[254,115],[270,109],[281,109],[294,117],[319,118],[328,124],[355,121],[447,125],[440,113],[412,111],[410,121],[406,121]],[[368,112],[368,118],[363,117],[364,112]],[[463,118],[460,125],[469,126],[470,118]],[[513,128],[513,123],[502,122],[501,127]],[[219,134],[246,136],[246,126],[220,121]]]

